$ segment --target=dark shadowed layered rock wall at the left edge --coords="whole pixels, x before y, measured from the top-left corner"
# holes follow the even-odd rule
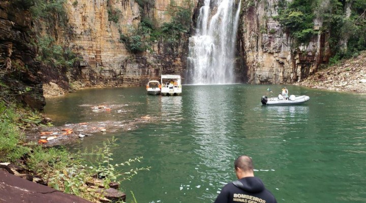
[[[31,44],[31,15],[26,5],[15,3],[0,1],[0,77],[7,86],[1,85],[0,90],[32,108],[43,109],[41,64],[34,62],[37,49]]]

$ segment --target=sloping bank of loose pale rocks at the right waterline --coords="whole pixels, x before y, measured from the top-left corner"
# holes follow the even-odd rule
[[[308,88],[366,93],[366,52],[294,83]]]

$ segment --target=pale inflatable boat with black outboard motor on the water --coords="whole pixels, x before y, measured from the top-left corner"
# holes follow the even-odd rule
[[[301,95],[295,96],[291,95],[289,98],[282,97],[270,97],[263,96],[261,102],[263,105],[291,105],[291,104],[302,104],[310,99],[309,96]]]

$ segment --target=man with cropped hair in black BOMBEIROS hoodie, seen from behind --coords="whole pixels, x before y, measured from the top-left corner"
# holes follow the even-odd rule
[[[239,180],[226,184],[215,203],[277,203],[275,196],[264,187],[261,179],[254,177],[254,166],[250,157],[239,156],[234,161],[234,167]]]

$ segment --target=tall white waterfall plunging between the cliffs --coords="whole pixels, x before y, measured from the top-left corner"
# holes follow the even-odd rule
[[[233,0],[204,0],[195,36],[189,39],[188,78],[192,84],[233,83],[240,5]]]

